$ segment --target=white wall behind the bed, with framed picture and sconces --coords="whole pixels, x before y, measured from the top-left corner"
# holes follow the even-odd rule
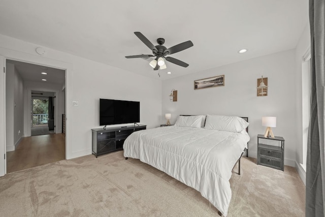
[[[225,76],[225,86],[194,90],[193,81],[217,75]],[[256,97],[257,78],[268,78],[268,96]],[[163,116],[179,114],[220,114],[249,118],[249,156],[257,156],[257,134],[264,134],[262,116],[276,116],[276,136],[285,139],[284,163],[296,160],[296,65],[295,50],[261,56],[239,63],[177,77],[163,82]],[[178,102],[170,102],[172,89],[178,90]],[[166,122],[161,118],[161,122]]]

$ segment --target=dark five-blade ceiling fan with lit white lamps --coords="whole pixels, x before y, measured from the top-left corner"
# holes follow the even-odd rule
[[[135,32],[134,34],[136,34],[136,36],[145,45],[147,45],[147,47],[149,47],[152,50],[153,55],[141,54],[141,55],[125,56],[125,58],[149,58],[155,56],[156,58],[151,60],[149,64],[153,68],[153,70],[166,69],[167,67],[165,64],[165,60],[182,67],[189,66],[187,63],[184,63],[183,61],[167,55],[177,53],[179,51],[192,47],[193,43],[191,41],[186,41],[167,49],[165,46],[163,46],[163,44],[165,43],[165,39],[163,38],[158,38],[157,39],[158,45],[154,46],[142,33]]]

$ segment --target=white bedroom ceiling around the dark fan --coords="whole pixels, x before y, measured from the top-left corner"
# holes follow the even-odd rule
[[[293,49],[307,23],[308,0],[2,0],[0,7],[0,34],[162,80]],[[170,55],[189,67],[167,62],[159,78],[148,61],[126,59],[152,54],[134,32],[154,45],[165,38],[167,48],[191,40]]]

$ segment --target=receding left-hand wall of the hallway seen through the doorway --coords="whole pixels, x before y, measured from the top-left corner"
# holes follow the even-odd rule
[[[14,144],[17,148],[24,137],[24,82],[16,68],[14,72]]]

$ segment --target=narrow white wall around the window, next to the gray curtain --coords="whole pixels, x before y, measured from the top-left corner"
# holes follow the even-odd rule
[[[310,49],[310,27],[306,25],[304,31],[299,39],[296,47],[296,112],[297,112],[297,125],[295,126],[297,145],[296,145],[296,168],[302,180],[306,181],[306,172],[300,164],[303,163],[303,56],[307,50]]]

